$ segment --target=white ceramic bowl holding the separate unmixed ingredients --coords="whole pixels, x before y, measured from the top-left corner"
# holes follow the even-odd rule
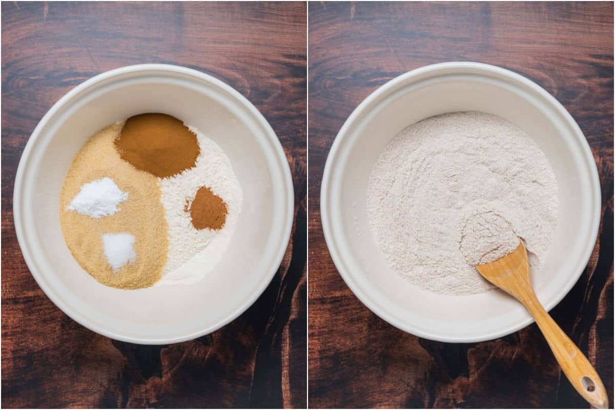
[[[109,288],[81,269],[63,239],[60,189],[75,154],[100,128],[142,112],[164,112],[207,130],[244,193],[228,250],[196,285]],[[276,134],[236,90],[192,69],[137,65],[85,81],[47,112],[23,151],[13,207],[25,261],[60,309],[113,339],[167,344],[215,331],[264,291],[288,245],[293,186]]]

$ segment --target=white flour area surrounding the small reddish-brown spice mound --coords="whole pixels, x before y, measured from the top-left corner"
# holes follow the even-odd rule
[[[228,157],[199,130],[188,128],[197,136],[200,154],[194,167],[161,179],[161,200],[169,225],[169,253],[163,277],[156,285],[199,282],[220,261],[241,211],[242,190]],[[189,212],[184,210],[186,199],[194,199],[202,186],[209,187],[228,207],[226,223],[219,231],[196,229]]]

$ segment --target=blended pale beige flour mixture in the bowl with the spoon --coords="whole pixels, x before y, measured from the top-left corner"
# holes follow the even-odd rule
[[[517,237],[539,266],[559,202],[555,175],[530,136],[472,111],[431,117],[395,136],[371,171],[367,208],[393,270],[435,293],[474,294],[493,288],[475,262],[510,253]],[[491,223],[498,225],[485,229]]]

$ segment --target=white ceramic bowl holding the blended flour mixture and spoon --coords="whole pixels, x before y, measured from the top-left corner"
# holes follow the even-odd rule
[[[357,298],[397,328],[444,342],[477,342],[533,320],[501,291],[445,296],[411,285],[387,265],[371,235],[366,192],[371,168],[397,133],[454,111],[495,114],[522,128],[555,172],[560,218],[542,268],[531,272],[539,300],[554,307],[585,268],[600,223],[600,184],[574,119],[544,89],[506,69],[443,63],[410,71],[367,97],[331,147],[322,181],[322,226],[331,257]]]

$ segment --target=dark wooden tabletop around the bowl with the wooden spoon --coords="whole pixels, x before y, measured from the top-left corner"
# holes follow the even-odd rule
[[[556,407],[587,404],[536,325],[446,344],[380,320],[327,251],[320,180],[336,133],[386,81],[443,61],[481,61],[529,77],[581,126],[602,188],[600,236],[555,320],[596,366],[613,406],[613,3],[310,2],[309,406]]]

